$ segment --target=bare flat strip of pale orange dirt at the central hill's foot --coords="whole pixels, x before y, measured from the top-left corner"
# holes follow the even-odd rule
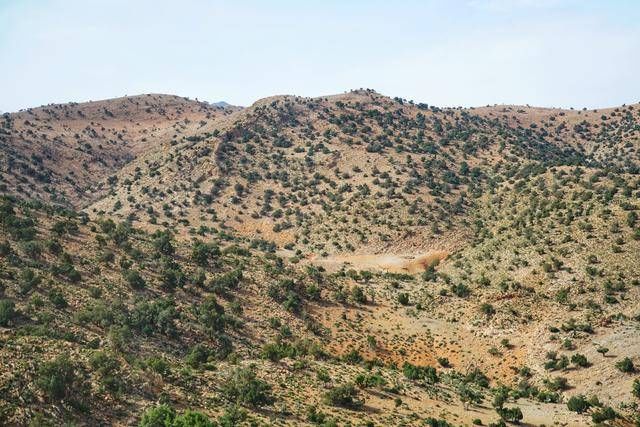
[[[329,272],[342,268],[355,270],[376,270],[390,273],[419,273],[430,264],[446,258],[446,251],[429,251],[416,255],[398,254],[359,254],[359,255],[329,255],[327,257],[313,257],[310,263],[322,266]]]

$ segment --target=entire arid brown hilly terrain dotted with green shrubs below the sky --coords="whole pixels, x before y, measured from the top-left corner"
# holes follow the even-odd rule
[[[640,105],[0,119],[0,424],[640,423]]]

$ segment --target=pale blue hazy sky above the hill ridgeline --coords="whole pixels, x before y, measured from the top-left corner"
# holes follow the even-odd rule
[[[251,105],[640,101],[637,0],[0,0],[0,111],[141,93]]]

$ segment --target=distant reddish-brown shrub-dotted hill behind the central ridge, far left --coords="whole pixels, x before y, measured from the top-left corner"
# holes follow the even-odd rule
[[[83,206],[96,185],[148,150],[237,110],[172,95],[54,104],[0,117],[5,191]]]

